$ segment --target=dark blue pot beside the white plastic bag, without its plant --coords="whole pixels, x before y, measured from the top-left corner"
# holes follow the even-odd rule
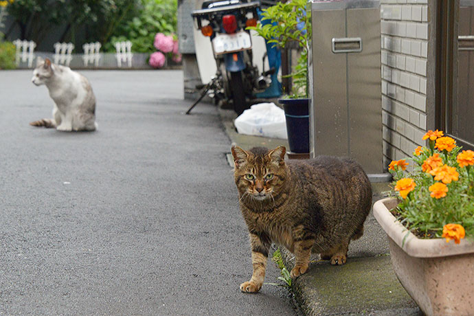
[[[280,99],[286,118],[286,133],[292,153],[309,153],[309,101]]]

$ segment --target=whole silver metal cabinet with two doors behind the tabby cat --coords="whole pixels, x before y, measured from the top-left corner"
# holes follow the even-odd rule
[[[380,10],[312,7],[311,14],[311,157],[352,157],[372,181],[385,179],[386,174],[376,175],[383,172]],[[333,38],[360,38],[363,45],[361,50],[335,54]]]

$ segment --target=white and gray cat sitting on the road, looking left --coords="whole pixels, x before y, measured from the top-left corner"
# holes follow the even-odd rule
[[[45,84],[54,100],[53,118],[31,122],[32,126],[55,127],[58,131],[95,131],[95,95],[89,80],[69,67],[54,65],[38,57],[32,82]]]

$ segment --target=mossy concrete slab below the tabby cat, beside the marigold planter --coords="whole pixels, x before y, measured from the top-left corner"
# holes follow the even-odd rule
[[[280,252],[290,271],[293,255],[282,248]],[[304,315],[422,315],[396,279],[388,254],[349,258],[337,267],[317,255],[312,259],[308,273],[293,281]]]

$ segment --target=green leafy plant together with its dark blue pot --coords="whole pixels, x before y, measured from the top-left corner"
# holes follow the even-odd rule
[[[306,13],[306,0],[279,2],[262,10],[262,18],[255,27],[267,43],[284,48],[297,43],[300,57],[292,74],[293,86],[289,98],[280,99],[286,115],[286,131],[293,153],[309,153],[309,91],[308,53],[311,41],[311,17]],[[268,23],[270,22],[270,23]]]

